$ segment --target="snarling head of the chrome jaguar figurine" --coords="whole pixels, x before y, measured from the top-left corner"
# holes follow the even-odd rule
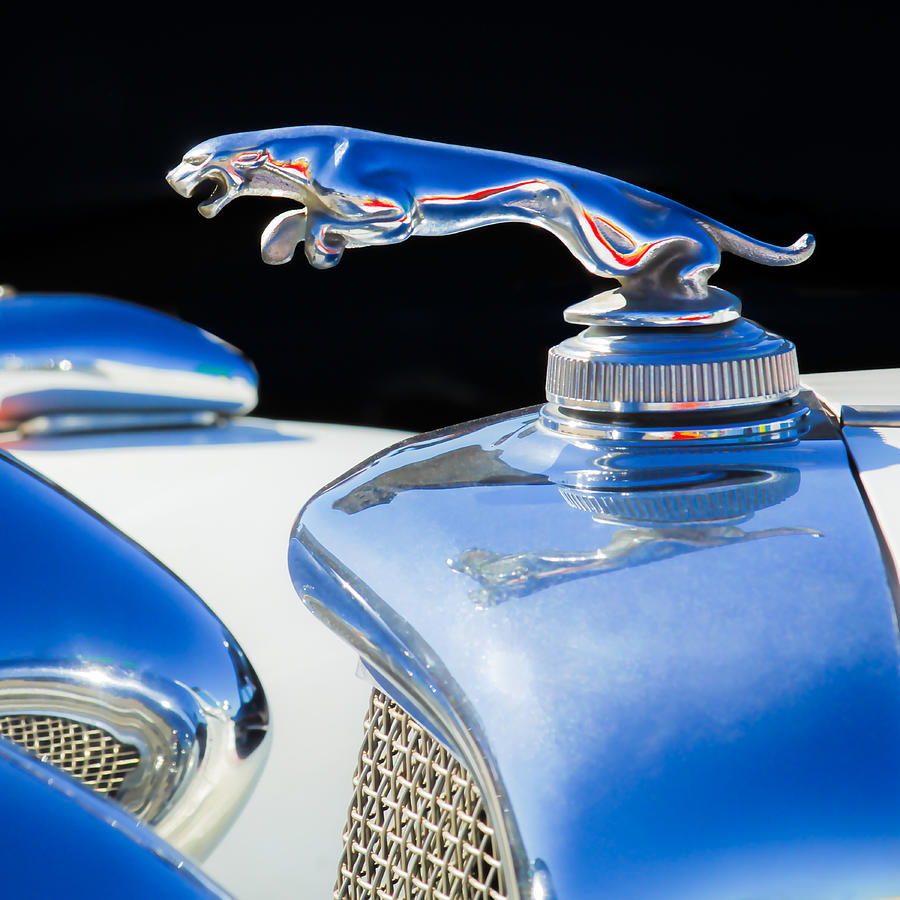
[[[197,144],[166,176],[182,197],[190,197],[205,181],[212,194],[197,207],[211,219],[235,197],[256,195],[309,200],[310,162],[315,147],[303,141],[286,146],[284,133],[266,131],[228,134]]]

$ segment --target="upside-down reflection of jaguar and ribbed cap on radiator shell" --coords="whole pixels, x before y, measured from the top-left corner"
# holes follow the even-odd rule
[[[754,512],[775,506],[800,487],[792,467],[612,469],[573,473],[575,483],[558,485],[565,502],[594,521],[623,525],[594,550],[495,553],[464,550],[447,565],[478,583],[470,597],[479,608],[505,603],[562,582],[648,565],[673,556],[785,535],[822,537],[813,528],[737,527]],[[615,486],[614,486],[615,485]]]

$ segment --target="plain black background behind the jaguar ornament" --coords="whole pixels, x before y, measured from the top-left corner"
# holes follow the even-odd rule
[[[523,8],[524,9],[524,8]],[[565,306],[612,286],[522,225],[269,267],[283,202],[211,221],[165,172],[214,135],[329,123],[606,172],[754,237],[815,234],[789,269],[715,283],[801,370],[900,364],[897,50],[862,7],[535,7],[418,16],[172,8],[4,37],[0,281],[174,313],[241,347],[263,414],[425,429],[540,402]],[[123,16],[125,13],[123,13]],[[300,255],[298,254],[298,257]]]

